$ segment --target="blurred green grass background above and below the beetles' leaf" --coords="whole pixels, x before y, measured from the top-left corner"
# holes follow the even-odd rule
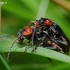
[[[48,17],[54,20],[70,38],[70,11],[52,0],[2,0],[7,2],[2,6],[2,33],[17,35],[19,29],[26,26],[30,20]],[[67,1],[67,0],[66,0]],[[70,2],[70,0],[68,0]],[[7,53],[2,53],[4,59]],[[12,52],[8,65],[12,70],[69,70],[70,64],[46,57]]]

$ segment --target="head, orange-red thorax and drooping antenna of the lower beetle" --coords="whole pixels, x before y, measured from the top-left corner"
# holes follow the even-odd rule
[[[18,32],[18,35],[17,35],[17,39],[14,40],[14,42],[12,43],[11,47],[10,47],[10,50],[8,52],[8,56],[7,56],[7,60],[9,58],[9,55],[10,55],[10,51],[11,51],[11,48],[13,47],[14,43],[16,41],[18,41],[19,44],[22,44],[23,43],[23,40],[24,38],[26,37],[29,42],[30,42],[30,38],[31,38],[31,35],[32,35],[33,31],[31,29],[30,26],[25,26],[24,28],[20,29],[19,32]],[[28,43],[29,43],[28,42]]]

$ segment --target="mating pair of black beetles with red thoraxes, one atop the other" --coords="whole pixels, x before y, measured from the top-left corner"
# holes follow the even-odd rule
[[[30,24],[34,25],[30,26]],[[38,46],[53,49],[66,54],[69,52],[69,39],[66,37],[62,29],[54,21],[48,18],[40,18],[39,20],[31,21],[28,26],[21,29],[18,32],[16,40],[22,44],[24,38],[28,39],[28,44],[32,41],[32,46],[35,45],[32,52],[34,52]],[[25,52],[27,51],[27,48],[28,45],[25,48]],[[10,51],[8,53],[8,57],[9,54]]]

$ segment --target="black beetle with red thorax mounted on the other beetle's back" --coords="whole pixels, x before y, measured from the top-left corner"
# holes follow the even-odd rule
[[[51,39],[68,54],[70,40],[56,22],[49,18],[40,18],[32,23],[35,25],[37,24],[43,31],[47,31]]]

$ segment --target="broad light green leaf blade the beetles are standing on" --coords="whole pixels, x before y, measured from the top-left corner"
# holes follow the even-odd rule
[[[8,52],[10,50],[10,47],[11,47],[12,43],[14,42],[14,40],[15,40],[15,38],[12,36],[1,38],[0,52]],[[26,40],[24,40],[24,44],[15,43],[14,46],[12,47],[11,52],[24,52],[26,44],[27,44]],[[30,47],[27,50],[27,53],[31,53],[32,49],[33,49],[33,47]],[[66,63],[70,63],[69,56],[56,52],[56,51],[53,51],[53,50],[50,50],[50,49],[42,48],[42,47],[38,47],[37,50],[33,54],[44,56],[44,57],[49,57],[49,58],[56,59],[56,60],[66,62]]]

